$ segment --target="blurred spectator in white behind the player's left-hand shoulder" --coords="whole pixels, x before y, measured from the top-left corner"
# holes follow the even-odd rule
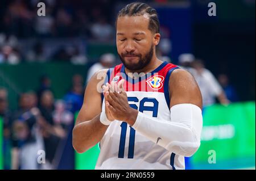
[[[97,62],[96,64],[91,66],[90,69],[88,70],[86,84],[88,83],[88,81],[90,80],[90,78],[94,73],[96,73],[98,70],[109,69],[110,67],[113,66],[114,62],[115,62],[114,54],[112,53],[102,54],[102,56],[100,57],[100,62]]]

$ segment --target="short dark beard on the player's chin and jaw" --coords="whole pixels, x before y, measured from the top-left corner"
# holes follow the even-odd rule
[[[126,53],[126,54],[122,53],[121,55],[118,53],[118,56],[119,56],[120,60],[122,61],[123,65],[125,65],[125,67],[127,69],[135,71],[135,70],[143,69],[145,66],[147,66],[151,62],[153,52],[154,52],[153,45],[151,45],[150,50],[145,54],[144,57],[142,57],[142,54],[133,54],[133,53]],[[134,56],[139,57],[139,62],[135,63],[135,64],[126,62],[125,56],[127,56],[127,55],[130,55],[130,56],[134,55]]]

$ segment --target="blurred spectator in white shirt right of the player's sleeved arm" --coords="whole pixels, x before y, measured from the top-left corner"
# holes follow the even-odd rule
[[[203,107],[214,104],[215,98],[217,98],[221,104],[229,104],[225,92],[222,90],[214,75],[208,69],[204,68],[203,61],[193,61],[192,67],[195,71],[191,73],[195,77],[203,97]]]

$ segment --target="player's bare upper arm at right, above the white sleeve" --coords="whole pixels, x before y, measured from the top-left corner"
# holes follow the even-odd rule
[[[170,108],[176,104],[195,104],[202,108],[202,96],[195,78],[186,70],[176,69],[169,80]]]

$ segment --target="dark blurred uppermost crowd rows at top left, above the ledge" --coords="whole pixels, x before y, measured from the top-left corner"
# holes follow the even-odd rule
[[[38,3],[46,5],[46,16],[38,16]],[[1,31],[16,37],[94,36],[109,39],[115,1],[1,1]],[[98,6],[101,5],[101,6]],[[100,31],[100,29],[104,31]]]

